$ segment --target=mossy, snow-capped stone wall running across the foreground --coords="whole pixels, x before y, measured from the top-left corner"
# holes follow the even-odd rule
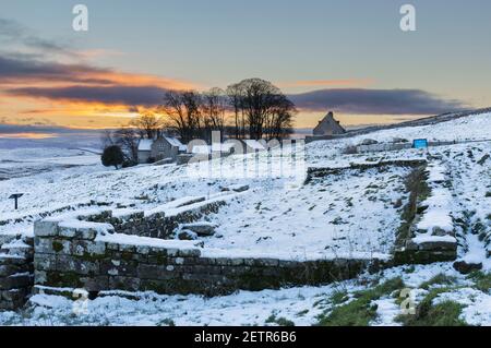
[[[97,223],[36,223],[35,284],[89,292],[151,290],[216,296],[239,289],[327,284],[354,278],[369,266],[381,266],[369,260],[213,257],[203,255],[204,250],[192,241],[111,232],[110,226]]]

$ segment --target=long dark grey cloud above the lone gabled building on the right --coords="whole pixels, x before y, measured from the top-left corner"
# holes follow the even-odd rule
[[[460,100],[440,98],[420,89],[320,89],[289,95],[299,109],[359,115],[431,115],[460,110]]]

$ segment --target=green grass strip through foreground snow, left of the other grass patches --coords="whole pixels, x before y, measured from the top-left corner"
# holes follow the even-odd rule
[[[403,279],[394,278],[372,289],[355,292],[352,301],[335,307],[327,315],[320,315],[319,325],[368,326],[376,317],[376,305],[372,305],[372,301],[402,288]]]

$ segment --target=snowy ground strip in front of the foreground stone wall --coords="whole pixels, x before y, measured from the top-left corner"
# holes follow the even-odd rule
[[[400,277],[415,305],[429,293],[421,286],[438,275],[453,277],[455,289],[442,292],[434,303],[453,300],[465,305],[460,319],[471,325],[491,325],[491,293],[474,288],[472,280],[458,274],[450,263],[428,266],[395,267],[375,275],[335,283],[322,287],[298,287],[205,298],[202,296],[158,296],[137,293],[132,299],[108,292],[95,300],[70,300],[60,296],[36,295],[20,313],[0,312],[0,325],[315,325],[339,305],[335,295],[346,293],[351,300],[370,285]],[[367,285],[369,284],[369,285]],[[438,288],[439,285],[434,285]],[[134,293],[132,293],[134,296]],[[349,302],[350,300],[348,300]],[[376,315],[371,325],[400,325],[397,297],[385,293],[373,301]]]

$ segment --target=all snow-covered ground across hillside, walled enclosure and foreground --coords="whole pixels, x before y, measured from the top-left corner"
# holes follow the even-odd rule
[[[487,252],[490,247],[482,240],[482,233],[489,235],[491,228],[491,159],[486,159],[491,154],[491,142],[486,141],[491,137],[491,115],[314,142],[306,146],[304,154],[302,148],[297,149],[296,158],[300,163],[295,167],[291,156],[278,151],[272,156],[260,154],[258,159],[252,158],[254,166],[246,169],[244,157],[227,157],[220,161],[218,171],[203,165],[145,165],[112,170],[103,167],[98,156],[81,151],[70,154],[39,148],[0,151],[0,176],[3,173],[7,179],[0,181],[0,220],[10,220],[0,226],[0,233],[31,235],[39,214],[75,207],[91,200],[152,211],[175,200],[214,197],[224,188],[247,184],[249,190],[207,217],[218,225],[215,236],[201,239],[209,252],[287,259],[384,256],[391,252],[400,224],[400,206],[407,201],[404,178],[409,169],[346,170],[308,184],[302,182],[307,167],[427,158],[424,151],[416,149],[343,154],[347,146],[357,145],[363,139],[390,142],[394,137],[471,141],[429,149],[439,158],[440,169],[432,171],[430,181],[444,178],[445,189],[440,192],[435,188],[429,203],[439,212],[445,211],[446,218],[466,221],[467,227],[457,233],[459,259],[482,263],[482,272],[489,273],[491,263]],[[14,192],[25,193],[16,212],[12,211],[13,202],[8,200]],[[431,216],[429,219],[424,223],[434,223]],[[472,232],[476,229],[478,232]],[[261,325],[266,321],[274,324],[274,317],[284,317],[297,325],[311,325],[319,322],[320,314],[334,308],[331,296],[339,289],[352,293],[369,288],[369,278],[382,281],[396,276],[402,276],[406,286],[418,288],[443,273],[455,277],[457,286],[439,298],[448,297],[462,303],[462,320],[467,323],[491,325],[490,290],[477,289],[471,280],[454,271],[451,263],[416,266],[410,273],[405,269],[391,268],[381,275],[324,287],[240,291],[212,299],[146,295],[140,300],[129,300],[108,296],[88,301],[88,314],[82,316],[73,315],[73,301],[38,295],[32,299],[27,312],[1,313],[0,324],[157,325],[172,321],[177,325]],[[428,292],[418,290],[416,298],[421,299],[424,291]],[[435,303],[438,301],[440,299]],[[400,324],[395,322],[399,311],[391,293],[375,299],[374,304],[378,304],[378,316],[371,324]]]

